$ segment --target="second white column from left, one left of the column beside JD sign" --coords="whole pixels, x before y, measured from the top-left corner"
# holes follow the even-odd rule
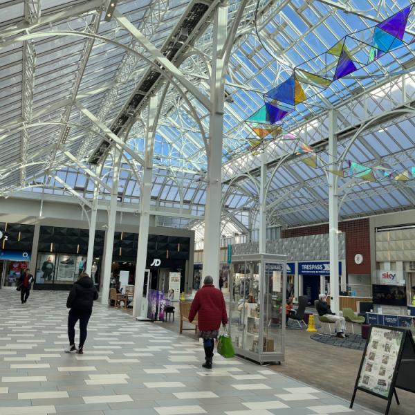
[[[113,183],[111,187],[111,199],[109,201],[108,227],[105,235],[104,261],[102,266],[102,291],[101,303],[108,304],[109,284],[111,280],[112,254],[114,247],[114,231],[116,230],[118,177],[120,175],[120,164],[122,153],[113,147]]]

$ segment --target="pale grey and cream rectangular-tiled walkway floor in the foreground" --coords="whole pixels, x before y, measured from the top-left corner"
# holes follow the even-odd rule
[[[66,295],[0,291],[0,415],[374,414],[236,358],[206,371],[198,342],[100,304],[69,355]]]

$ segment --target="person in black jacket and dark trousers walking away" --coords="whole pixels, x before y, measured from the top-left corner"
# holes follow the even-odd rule
[[[98,291],[93,285],[92,279],[88,274],[82,273],[77,282],[73,284],[69,293],[66,307],[71,308],[68,315],[68,338],[69,348],[67,353],[76,351],[78,354],[84,353],[84,343],[86,340],[86,327],[92,314],[94,299],[98,299]],[[75,347],[75,324],[80,320],[80,346]]]

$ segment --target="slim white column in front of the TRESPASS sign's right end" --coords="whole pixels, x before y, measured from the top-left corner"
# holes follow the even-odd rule
[[[329,111],[329,165],[335,166],[337,153],[337,116]],[[335,167],[332,167],[335,169]],[[329,173],[329,249],[330,249],[330,295],[331,310],[339,313],[339,235],[338,235],[338,176]]]

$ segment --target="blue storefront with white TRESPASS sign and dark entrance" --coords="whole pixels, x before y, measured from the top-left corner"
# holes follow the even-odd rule
[[[301,295],[308,297],[308,305],[313,306],[320,293],[330,293],[330,262],[313,261],[298,263]],[[342,263],[339,261],[339,284],[342,275]]]

